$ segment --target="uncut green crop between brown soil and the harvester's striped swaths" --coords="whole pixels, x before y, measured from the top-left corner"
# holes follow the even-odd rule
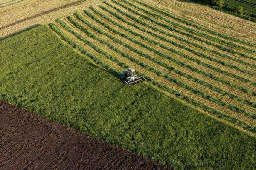
[[[255,167],[255,137],[146,83],[127,87],[112,61],[72,46],[86,55],[48,26],[0,41],[0,100],[177,169]]]

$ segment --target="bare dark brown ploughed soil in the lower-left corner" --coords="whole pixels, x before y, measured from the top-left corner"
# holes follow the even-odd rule
[[[0,101],[0,170],[169,170],[169,167]]]

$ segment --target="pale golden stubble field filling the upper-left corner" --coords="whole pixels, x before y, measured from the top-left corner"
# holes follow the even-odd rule
[[[0,40],[99,2],[101,0],[1,0]]]

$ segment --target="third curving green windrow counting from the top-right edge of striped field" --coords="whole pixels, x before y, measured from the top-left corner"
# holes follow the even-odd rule
[[[186,35],[187,37],[191,37],[191,38],[193,38],[193,39],[195,39],[195,40],[204,42],[204,43],[206,43],[206,44],[208,44],[208,45],[215,46],[215,47],[217,47],[217,48],[219,48],[219,49],[221,49],[221,50],[223,50],[223,51],[227,51],[227,52],[232,53],[232,54],[238,54],[239,56],[244,57],[244,58],[256,60],[255,57],[249,56],[249,55],[244,54],[244,53],[241,53],[241,52],[239,52],[239,51],[234,51],[233,49],[223,47],[223,46],[221,46],[221,45],[212,43],[212,42],[210,42],[210,41],[208,41],[208,40],[203,40],[203,39],[201,38],[201,37],[206,37],[206,38],[207,38],[207,36],[204,36],[204,35],[200,35],[200,34],[199,34],[198,36],[200,36],[200,37],[196,37],[196,36],[192,35],[192,34],[194,34],[194,31],[190,31],[190,32],[189,32],[190,29],[186,30],[186,31],[188,31],[189,33],[186,33],[186,32],[184,32],[184,31],[180,31],[180,30],[178,30],[178,29],[172,28],[172,27],[170,27],[170,26],[168,26],[168,25],[166,25],[166,24],[164,24],[164,23],[161,23],[161,22],[157,21],[157,20],[155,20],[155,19],[152,18],[152,17],[148,17],[148,16],[146,16],[146,15],[140,14],[139,12],[137,12],[137,11],[135,11],[135,10],[133,10],[133,9],[131,9],[131,8],[129,8],[129,7],[127,7],[127,6],[124,6],[123,4],[121,4],[121,3],[119,3],[119,2],[116,2],[116,1],[114,1],[114,0],[112,0],[112,1],[113,1],[114,3],[116,3],[117,5],[119,5],[119,6],[122,6],[122,8],[127,9],[128,11],[130,11],[131,13],[133,13],[134,15],[140,16],[140,17],[144,18],[145,20],[149,20],[149,21],[151,21],[152,23],[155,23],[155,24],[157,24],[157,25],[159,25],[159,26],[162,26],[163,28],[166,28],[166,29],[168,29],[168,30],[170,30],[170,31],[175,31],[175,32],[178,32],[178,33],[180,33],[180,34]],[[109,5],[109,3],[107,3],[107,2],[104,2],[104,3],[105,3],[106,5]],[[161,19],[161,20],[166,20],[166,19],[163,18],[163,19]],[[170,22],[171,22],[171,21],[170,21]]]

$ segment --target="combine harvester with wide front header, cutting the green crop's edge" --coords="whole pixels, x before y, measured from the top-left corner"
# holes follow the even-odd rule
[[[135,69],[133,68],[129,68],[127,71],[123,71],[123,79],[124,79],[124,83],[127,84],[128,86],[146,81],[144,77],[138,76],[137,74],[135,74]]]

